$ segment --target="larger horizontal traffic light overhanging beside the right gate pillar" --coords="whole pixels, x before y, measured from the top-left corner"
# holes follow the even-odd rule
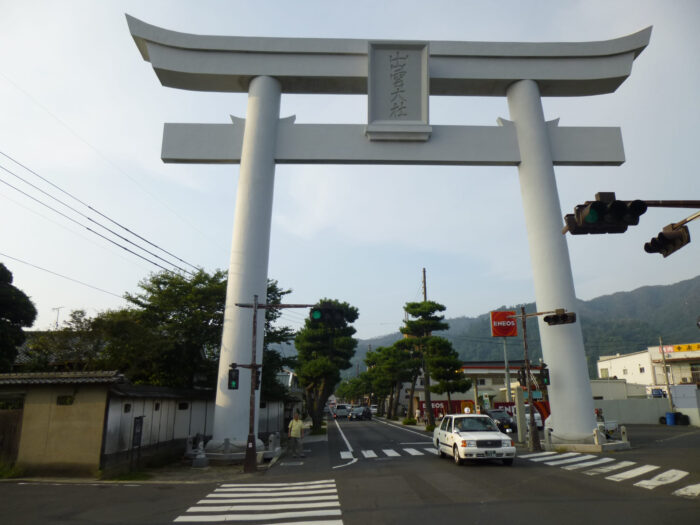
[[[628,226],[639,224],[640,215],[647,211],[641,200],[619,201],[614,192],[596,193],[595,201],[586,201],[564,216],[565,230],[572,235],[588,233],[623,233]]]

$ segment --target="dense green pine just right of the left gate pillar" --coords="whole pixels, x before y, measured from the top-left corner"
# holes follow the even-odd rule
[[[328,314],[322,319],[307,319],[297,333],[297,376],[304,389],[306,409],[313,422],[312,431],[320,432],[323,423],[323,407],[340,381],[340,371],[352,366],[357,340],[352,336],[357,320],[357,308],[348,303],[322,299],[319,308]]]

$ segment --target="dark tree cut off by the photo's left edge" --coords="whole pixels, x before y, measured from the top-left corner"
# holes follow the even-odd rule
[[[24,343],[23,327],[36,319],[36,308],[27,295],[12,285],[12,272],[0,263],[0,371],[9,372]]]

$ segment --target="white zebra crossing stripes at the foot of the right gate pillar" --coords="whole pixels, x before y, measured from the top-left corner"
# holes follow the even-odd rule
[[[582,474],[587,476],[602,475],[606,480],[616,483],[635,480],[653,472],[655,475],[651,478],[642,479],[634,483],[635,487],[648,490],[678,483],[689,475],[689,472],[677,469],[657,473],[660,468],[657,465],[637,465],[635,461],[617,461],[610,457],[598,457],[578,452],[535,452],[518,457],[535,463],[560,467],[565,470],[580,470]],[[676,489],[672,494],[685,498],[697,498],[700,496],[700,483]]]

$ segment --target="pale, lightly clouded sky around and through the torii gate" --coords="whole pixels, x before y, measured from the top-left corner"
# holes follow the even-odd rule
[[[38,310],[32,329],[62,324],[76,309],[125,307],[124,293],[160,271],[89,231],[138,251],[87,217],[145,245],[128,228],[185,269],[228,268],[238,165],[164,164],[162,129],[245,117],[247,95],[163,87],[127,13],[194,34],[377,40],[595,41],[653,26],[615,93],[543,99],[545,118],[561,126],[620,127],[627,159],[556,167],[562,216],[600,191],[700,199],[695,0],[0,0],[0,262]],[[367,98],[283,95],[281,117],[290,115],[363,124]],[[491,126],[499,117],[509,118],[505,98],[430,99],[433,125]],[[643,250],[694,211],[652,208],[624,235],[567,236],[577,296],[698,275],[700,220],[689,224],[698,240],[670,257]],[[422,299],[423,268],[428,298],[447,318],[534,301],[517,168],[277,167],[268,275],[293,290],[287,303],[346,301],[360,312],[357,337],[395,332],[404,304]],[[298,328],[305,315],[288,309],[281,322]]]

